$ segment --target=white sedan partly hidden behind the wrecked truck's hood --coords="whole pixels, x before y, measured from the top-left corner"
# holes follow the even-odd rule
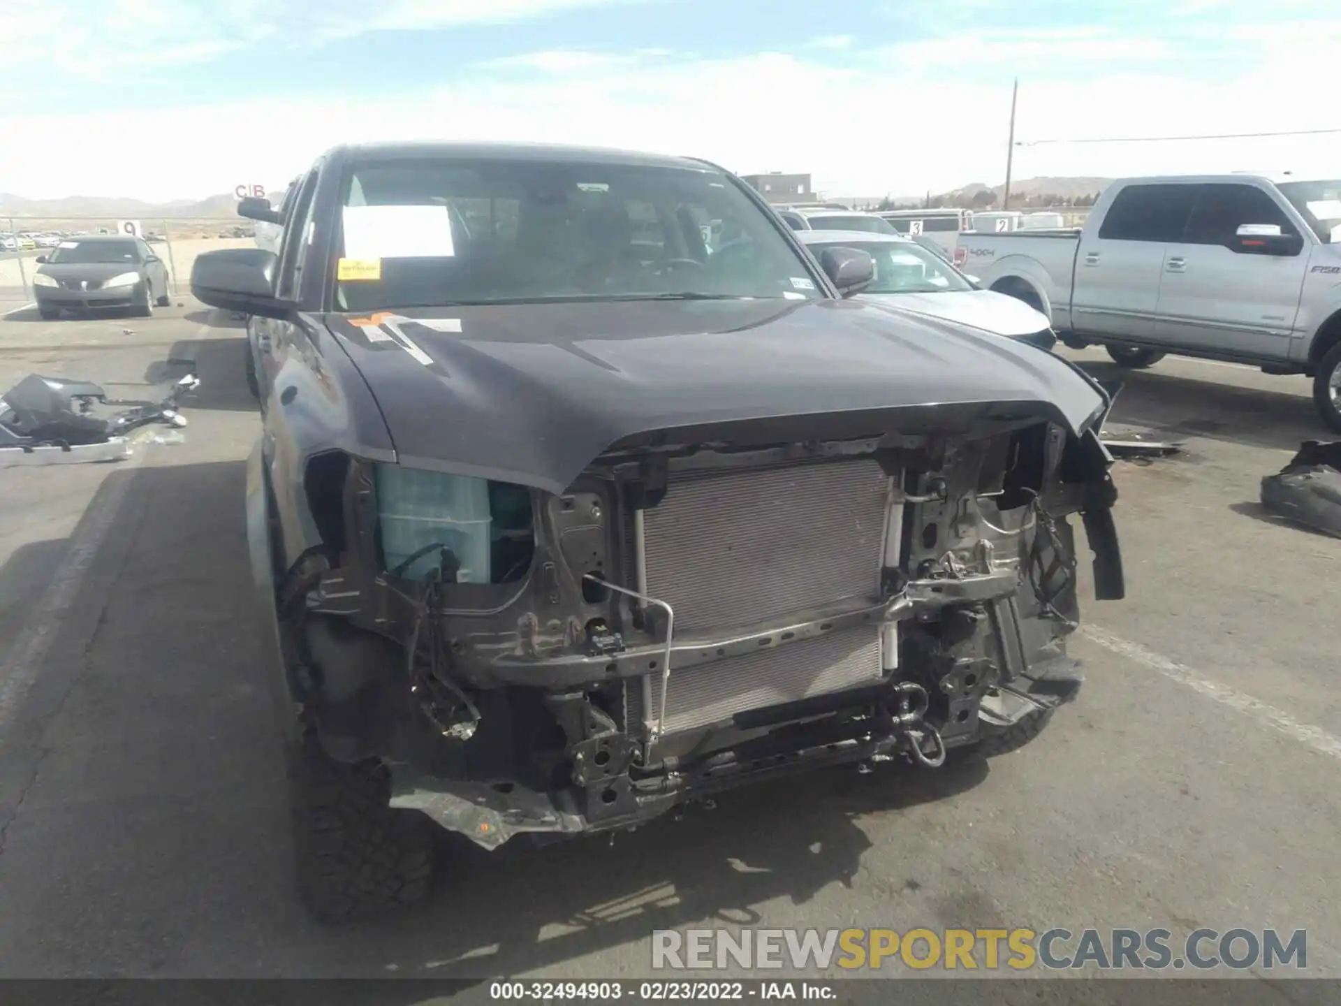
[[[864,231],[797,231],[795,235],[815,256],[825,248],[856,248],[870,255],[876,278],[857,295],[858,300],[889,303],[1041,349],[1057,345],[1047,315],[1014,296],[982,290],[949,262],[908,237]]]

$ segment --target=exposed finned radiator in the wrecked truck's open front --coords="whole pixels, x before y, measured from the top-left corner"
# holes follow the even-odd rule
[[[648,593],[675,609],[677,638],[728,633],[834,601],[874,601],[888,484],[870,459],[673,473],[661,504],[645,514]],[[672,664],[662,732],[880,676],[874,628],[684,671]],[[644,680],[629,681],[629,726],[656,716],[660,679]]]

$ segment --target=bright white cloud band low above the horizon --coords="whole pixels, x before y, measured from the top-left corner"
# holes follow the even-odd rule
[[[1102,42],[1080,39],[1090,40]],[[1255,63],[1235,64],[1223,83],[1193,79],[1176,58],[1121,75],[1104,74],[1097,63],[1070,82],[1034,82],[1023,74],[1016,137],[1031,142],[1341,125],[1301,98],[1334,87],[1332,60],[1318,58],[1329,44],[1322,32],[1313,42],[1265,43]],[[338,142],[432,138],[693,154],[742,173],[811,172],[830,193],[944,190],[999,182],[1004,174],[1010,80],[1019,62],[991,52],[975,70],[995,76],[992,83],[963,82],[964,63],[948,51],[939,63],[919,63],[888,51],[850,50],[843,66],[834,66],[829,54],[821,60],[562,51],[522,56],[506,70],[467,67],[455,83],[386,101],[276,98],[152,115],[0,119],[0,134],[23,138],[0,150],[0,178],[25,196],[198,197],[239,182],[282,182]],[[162,141],[152,156],[138,154],[139,139],[150,135]],[[126,156],[114,153],[122,149]],[[1295,168],[1336,177],[1337,149],[1337,135],[1037,145],[1016,149],[1014,172],[1025,178]]]

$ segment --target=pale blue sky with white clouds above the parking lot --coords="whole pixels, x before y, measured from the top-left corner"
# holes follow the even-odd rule
[[[1015,75],[1022,139],[1341,126],[1322,98],[1341,7],[1318,0],[9,0],[0,38],[0,131],[44,154],[4,144],[0,192],[28,196],[202,196],[416,135],[650,146],[904,194],[1000,180]],[[138,161],[99,156],[131,135]],[[1019,173],[1291,142],[1039,146]]]

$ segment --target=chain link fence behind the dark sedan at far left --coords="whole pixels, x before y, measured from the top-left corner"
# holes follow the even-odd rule
[[[121,233],[127,224],[138,228],[164,260],[174,298],[188,292],[197,255],[255,244],[255,225],[240,217],[0,216],[0,315],[32,303],[32,276],[42,266],[39,259],[62,241],[78,240],[80,235]]]

